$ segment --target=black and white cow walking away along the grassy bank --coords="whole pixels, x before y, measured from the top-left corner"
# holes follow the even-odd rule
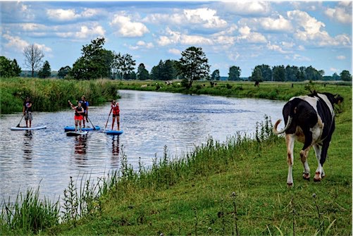
[[[273,126],[273,132],[276,135],[285,132],[288,163],[287,185],[293,185],[292,168],[295,139],[304,143],[304,147],[300,151],[300,157],[304,165],[303,178],[305,180],[310,179],[307,156],[311,147],[314,147],[318,160],[314,181],[321,181],[321,178],[325,176],[323,163],[326,161],[328,146],[335,130],[333,104],[340,104],[342,101],[343,98],[340,95],[313,92],[306,96],[292,97],[283,107],[285,128],[278,131],[277,127],[281,120],[277,120]]]

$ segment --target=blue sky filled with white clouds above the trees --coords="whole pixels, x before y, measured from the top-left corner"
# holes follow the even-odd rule
[[[0,1],[0,56],[16,59],[35,44],[51,70],[70,66],[82,46],[130,54],[136,70],[179,60],[202,47],[213,70],[231,66],[312,66],[325,75],[352,73],[352,1]]]

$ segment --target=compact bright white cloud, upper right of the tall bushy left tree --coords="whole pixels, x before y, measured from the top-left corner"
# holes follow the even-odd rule
[[[143,23],[132,22],[130,16],[121,14],[114,15],[110,25],[116,27],[118,29],[116,34],[122,37],[142,37],[149,32]]]

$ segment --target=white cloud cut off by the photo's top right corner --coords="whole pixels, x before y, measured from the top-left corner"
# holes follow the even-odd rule
[[[340,23],[352,23],[352,1],[340,1],[335,8],[327,8],[325,14]]]

